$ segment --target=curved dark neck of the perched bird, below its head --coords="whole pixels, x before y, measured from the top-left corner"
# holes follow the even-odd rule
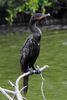
[[[41,40],[41,30],[36,26],[36,24],[30,26],[31,33],[34,39],[39,43]]]

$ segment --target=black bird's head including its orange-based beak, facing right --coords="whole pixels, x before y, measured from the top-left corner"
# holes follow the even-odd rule
[[[48,14],[36,13],[31,17],[30,23],[35,24],[36,22],[44,19],[47,16],[50,16],[50,14],[49,13]]]

